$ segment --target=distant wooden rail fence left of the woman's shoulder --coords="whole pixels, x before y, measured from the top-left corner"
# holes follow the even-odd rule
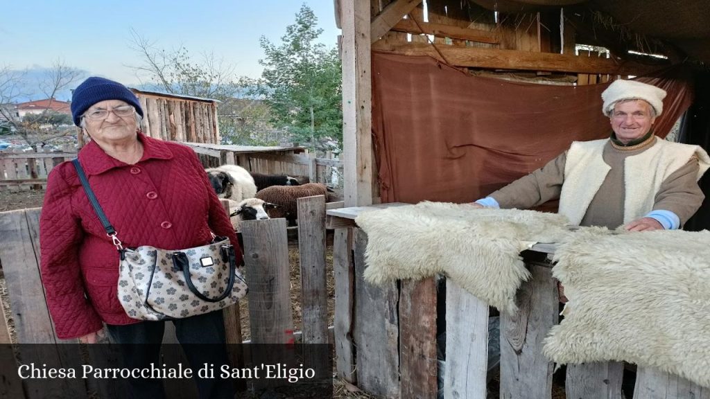
[[[63,151],[0,151],[0,190],[18,192],[45,188],[50,171],[76,156],[75,148]]]

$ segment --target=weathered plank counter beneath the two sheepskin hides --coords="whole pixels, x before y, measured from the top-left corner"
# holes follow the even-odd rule
[[[337,374],[362,390],[386,398],[437,398],[437,285],[433,278],[386,286],[364,281],[367,235],[354,217],[372,207],[330,209],[335,228],[334,341]],[[523,253],[532,278],[516,297],[519,311],[501,316],[500,398],[550,399],[555,365],[542,354],[542,340],[557,324],[559,301],[548,253],[537,244]],[[486,399],[488,305],[452,280],[445,293],[444,398]],[[569,399],[622,399],[620,363],[571,364]],[[710,388],[679,376],[639,367],[634,399],[710,398]]]

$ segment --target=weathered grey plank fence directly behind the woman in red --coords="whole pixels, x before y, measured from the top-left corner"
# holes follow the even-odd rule
[[[226,206],[226,202],[225,202]],[[305,344],[322,344],[329,341],[327,323],[327,289],[325,263],[325,211],[324,196],[298,200],[300,223],[298,226],[300,248],[300,273],[302,282],[301,309],[304,329],[293,331],[291,314],[288,240],[285,219],[251,221],[241,224],[244,237],[246,280],[249,284],[249,326],[251,342],[255,344],[287,344],[295,336]],[[43,359],[45,363],[75,361],[80,356],[80,346],[59,345],[76,342],[56,337],[45,302],[39,264],[40,208],[22,209],[0,213],[0,262],[9,294],[11,315],[16,342],[21,344],[58,344],[51,353],[56,359]],[[3,300],[0,297],[0,305]],[[224,324],[228,344],[241,343],[241,315],[239,306],[224,310]],[[165,343],[177,343],[172,323],[166,323]],[[11,343],[8,320],[0,317],[0,350]],[[168,346],[163,356],[177,356],[185,362],[182,351]],[[2,352],[7,354],[7,352]],[[232,366],[239,367],[244,359],[230,354]],[[40,390],[31,381],[18,378],[17,364],[8,356],[0,356],[0,398],[45,398],[48,392],[70,393],[71,398],[87,398],[94,390],[100,398],[124,398],[125,392],[115,384],[101,380],[84,381],[81,378],[47,379]],[[10,356],[11,357],[11,356]],[[175,358],[173,358],[175,359]],[[71,363],[75,364],[75,363]],[[115,364],[114,364],[115,366]],[[169,398],[197,398],[190,380],[166,380]],[[239,380],[237,380],[239,382]],[[94,386],[92,386],[94,384]],[[113,388],[111,388],[113,387]],[[243,388],[243,387],[242,387]],[[57,395],[56,397],[60,397]]]

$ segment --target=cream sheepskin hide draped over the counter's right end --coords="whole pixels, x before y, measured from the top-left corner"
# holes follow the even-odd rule
[[[628,361],[710,386],[709,231],[581,229],[555,260],[569,302],[550,359]]]

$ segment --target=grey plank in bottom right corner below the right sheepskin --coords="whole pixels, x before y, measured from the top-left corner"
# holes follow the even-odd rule
[[[710,399],[710,388],[657,368],[638,367],[633,399]]]

